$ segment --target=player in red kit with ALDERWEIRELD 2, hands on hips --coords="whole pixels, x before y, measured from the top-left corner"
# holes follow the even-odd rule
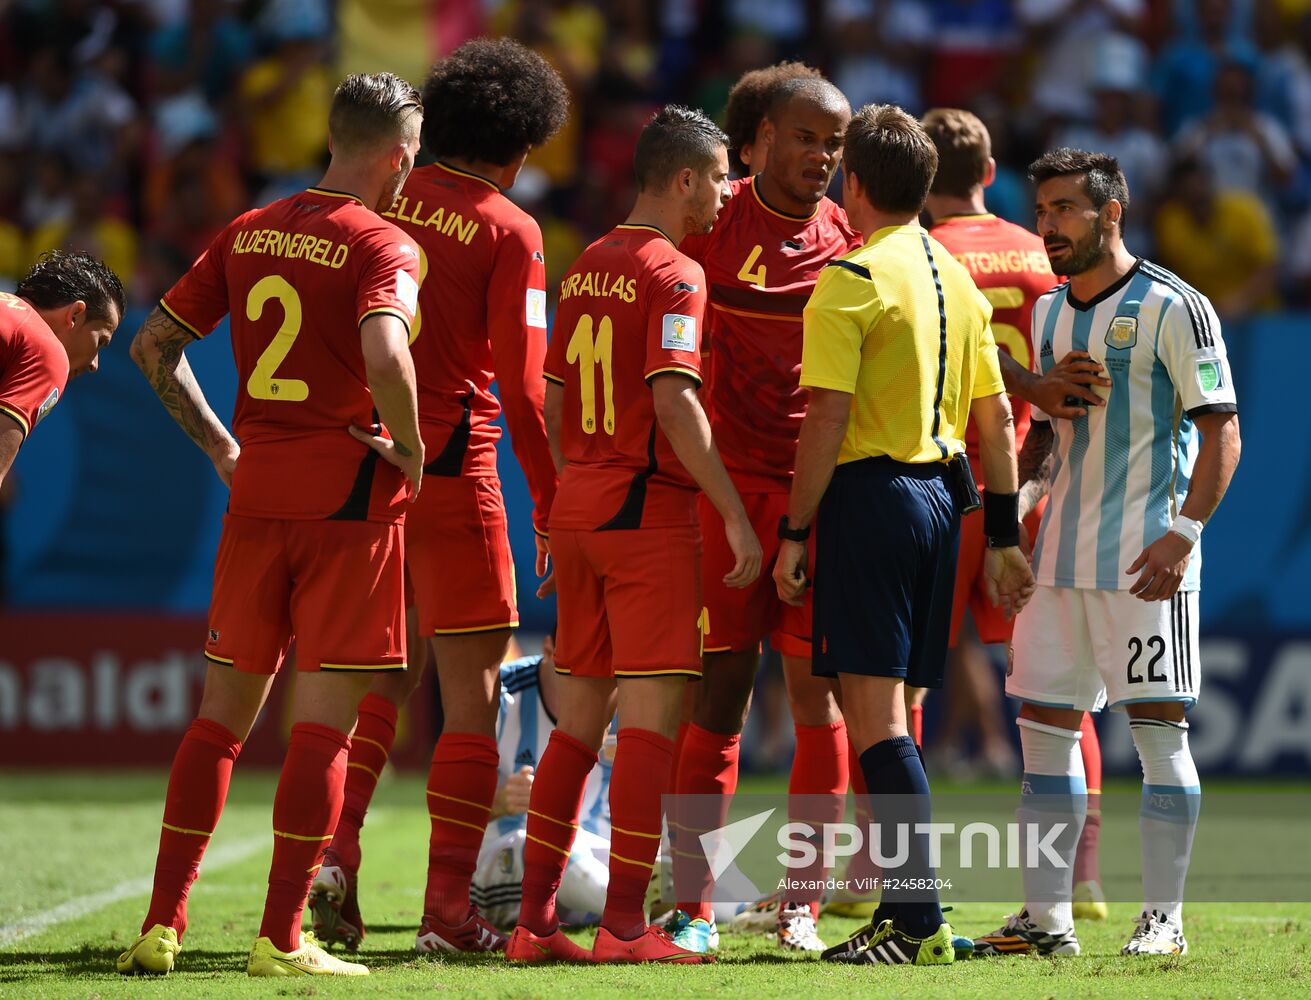
[[[246,972],[368,972],[303,934],[300,915],[341,813],[355,706],[375,671],[405,670],[401,523],[423,474],[406,347],[418,252],[379,212],[414,164],[422,117],[404,80],[347,77],[333,96],[332,163],[320,186],[232,221],[132,342],[132,359],[232,495],[214,570],[205,693],[173,759],[149,911],[119,972],[173,967],[232,765],[292,636],[291,742]],[[228,313],[233,433],[184,355]]]

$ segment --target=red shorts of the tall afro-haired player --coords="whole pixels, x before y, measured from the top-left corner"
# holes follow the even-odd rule
[[[519,624],[505,501],[494,476],[425,476],[405,514],[405,569],[421,636]]]

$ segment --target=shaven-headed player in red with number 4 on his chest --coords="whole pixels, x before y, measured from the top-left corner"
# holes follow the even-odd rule
[[[762,138],[749,153],[753,165],[764,160],[763,170],[734,181],[734,198],[714,231],[691,236],[680,248],[705,267],[711,425],[767,560],[777,550],[806,409],[806,392],[798,381],[801,311],[821,269],[861,242],[842,208],[825,197],[850,118],[847,98],[822,77],[801,75],[779,81],[770,94]],[[826,815],[794,819],[836,820],[847,790],[847,734],[832,683],[810,674],[809,599],[804,607],[787,606],[764,577],[747,590],[722,586],[732,553],[708,502],[700,505],[700,519],[709,634],[705,672],[692,695],[691,721],[682,739],[676,792],[720,794],[728,809],[728,797],[737,786],[738,743],[760,640],[768,636],[783,657],[796,725],[788,790],[792,796],[827,796],[832,802],[823,810]],[[802,801],[817,799],[796,799]],[[695,840],[696,832],[675,826],[674,851],[695,853],[679,841]],[[798,878],[822,877],[815,872]],[[673,931],[686,946],[705,950],[717,940],[717,929],[711,904],[701,895],[679,903]],[[818,893],[781,900],[779,944],[823,950],[815,933],[818,911]]]

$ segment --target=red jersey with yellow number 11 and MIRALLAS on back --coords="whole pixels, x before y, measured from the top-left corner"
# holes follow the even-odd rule
[[[545,377],[564,387],[568,465],[552,528],[696,524],[696,482],[656,421],[650,380],[701,381],[705,275],[649,225],[619,225],[560,283]]]

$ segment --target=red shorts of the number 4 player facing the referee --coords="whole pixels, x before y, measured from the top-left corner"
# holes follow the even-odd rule
[[[788,512],[787,493],[743,493],[742,503],[751,519],[751,527],[764,549],[764,562],[755,583],[742,590],[724,586],[724,577],[735,562],[733,549],[724,535],[724,519],[705,494],[697,499],[701,518],[701,536],[705,556],[701,577],[705,585],[705,607],[709,613],[707,653],[754,650],[760,640],[770,637],[770,645],[787,657],[810,657],[812,590],[808,587],[804,604],[793,607],[779,600],[773,585],[773,562],[779,556],[779,518]],[[806,577],[814,579],[814,539],[809,545],[810,564]]]

